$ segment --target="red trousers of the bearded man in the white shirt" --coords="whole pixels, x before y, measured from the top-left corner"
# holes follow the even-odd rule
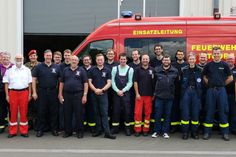
[[[28,134],[28,120],[27,120],[27,111],[28,111],[28,100],[29,100],[29,91],[9,91],[9,103],[10,103],[10,120],[9,120],[9,134],[17,134],[18,125],[18,109],[20,110],[20,133]]]

